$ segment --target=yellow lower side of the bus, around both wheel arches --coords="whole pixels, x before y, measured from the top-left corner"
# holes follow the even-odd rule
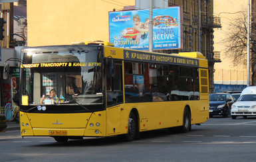
[[[126,134],[128,118],[134,108],[139,115],[140,132],[183,125],[184,109],[191,110],[192,124],[201,124],[209,119],[207,101],[168,101],[127,103],[107,109],[107,136]]]

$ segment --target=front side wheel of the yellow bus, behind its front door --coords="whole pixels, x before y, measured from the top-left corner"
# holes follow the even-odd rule
[[[138,119],[134,112],[131,112],[128,119],[128,134],[125,134],[124,140],[130,142],[134,140],[136,136],[138,136]]]

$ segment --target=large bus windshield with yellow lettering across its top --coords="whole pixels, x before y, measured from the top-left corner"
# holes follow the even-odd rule
[[[25,48],[23,53],[21,106],[65,104],[103,108],[103,56],[98,46]],[[53,91],[55,94],[51,95]]]

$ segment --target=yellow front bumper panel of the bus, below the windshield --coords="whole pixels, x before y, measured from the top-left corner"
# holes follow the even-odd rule
[[[106,111],[47,115],[20,112],[20,119],[21,136],[50,136],[49,131],[55,130],[67,131],[65,136],[106,136]]]

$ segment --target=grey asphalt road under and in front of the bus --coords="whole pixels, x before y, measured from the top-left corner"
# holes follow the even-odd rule
[[[0,161],[255,161],[256,118],[210,118],[192,131],[144,132],[140,140],[21,138],[18,130],[0,134]]]

